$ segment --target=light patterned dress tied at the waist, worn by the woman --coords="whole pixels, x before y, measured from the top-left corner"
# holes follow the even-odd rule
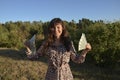
[[[42,55],[43,46],[38,49],[37,55]],[[69,61],[83,63],[87,51],[84,50],[81,55],[77,55],[73,48],[68,52],[64,45],[50,46],[46,55],[48,56],[48,70],[45,80],[73,80],[73,75],[70,70]]]

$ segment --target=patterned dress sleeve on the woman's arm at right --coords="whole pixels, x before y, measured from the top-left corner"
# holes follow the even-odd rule
[[[83,63],[85,61],[87,52],[88,52],[88,50],[85,49],[81,52],[80,55],[77,54],[77,52],[75,51],[75,48],[72,44],[71,49],[70,49],[70,53],[71,53],[70,57],[71,57],[72,61],[75,63]]]

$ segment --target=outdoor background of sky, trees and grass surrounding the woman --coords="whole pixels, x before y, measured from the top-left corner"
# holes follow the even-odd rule
[[[55,17],[64,21],[77,51],[82,33],[92,46],[85,63],[70,62],[75,80],[120,80],[119,5],[119,0],[1,0],[0,80],[44,80],[47,57],[29,60],[23,43],[36,34],[38,49]]]

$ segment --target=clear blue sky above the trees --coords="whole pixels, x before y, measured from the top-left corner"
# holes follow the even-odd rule
[[[0,0],[0,23],[8,21],[120,20],[120,0]]]

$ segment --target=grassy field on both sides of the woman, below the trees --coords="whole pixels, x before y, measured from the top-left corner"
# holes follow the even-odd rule
[[[0,49],[0,80],[44,80],[47,59],[29,60],[25,50]],[[120,67],[100,68],[70,62],[74,80],[120,80]]]

